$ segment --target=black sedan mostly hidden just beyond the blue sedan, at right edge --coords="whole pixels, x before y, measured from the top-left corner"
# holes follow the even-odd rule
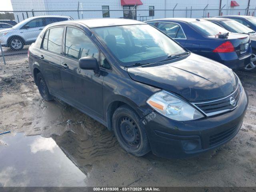
[[[256,71],[256,33],[255,31],[237,22],[236,20],[232,20],[230,18],[214,17],[214,18],[206,18],[204,20],[213,22],[214,24],[217,24],[233,33],[248,34],[251,40],[252,58],[251,58],[251,61],[245,66],[244,70],[250,71],[250,72]]]

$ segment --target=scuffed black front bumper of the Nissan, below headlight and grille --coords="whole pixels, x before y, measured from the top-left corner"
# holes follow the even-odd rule
[[[228,142],[240,130],[248,106],[243,91],[237,108],[218,116],[174,121],[157,112],[142,119],[153,154],[164,158],[189,158]]]

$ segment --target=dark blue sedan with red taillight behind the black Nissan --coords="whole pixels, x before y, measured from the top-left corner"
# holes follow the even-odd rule
[[[232,34],[200,19],[166,18],[146,21],[198,55],[216,60],[233,70],[243,69],[252,56],[247,34]]]

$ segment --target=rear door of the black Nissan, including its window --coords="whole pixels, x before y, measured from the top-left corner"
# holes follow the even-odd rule
[[[54,95],[62,95],[62,82],[60,77],[60,59],[62,52],[62,36],[64,26],[49,28],[39,52],[43,76],[48,89]]]

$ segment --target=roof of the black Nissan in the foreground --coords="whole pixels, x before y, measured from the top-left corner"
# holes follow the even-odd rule
[[[132,19],[116,19],[116,18],[98,18],[98,19],[82,19],[71,20],[65,23],[76,23],[86,25],[88,28],[106,27],[106,26],[121,26],[121,25],[136,25],[146,24]],[[54,25],[54,24],[51,24]]]

